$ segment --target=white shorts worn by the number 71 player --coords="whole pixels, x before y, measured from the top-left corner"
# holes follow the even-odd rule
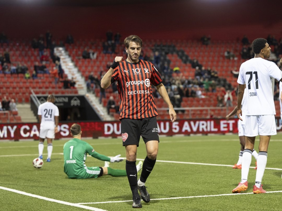
[[[246,116],[245,136],[276,135],[275,115]]]

